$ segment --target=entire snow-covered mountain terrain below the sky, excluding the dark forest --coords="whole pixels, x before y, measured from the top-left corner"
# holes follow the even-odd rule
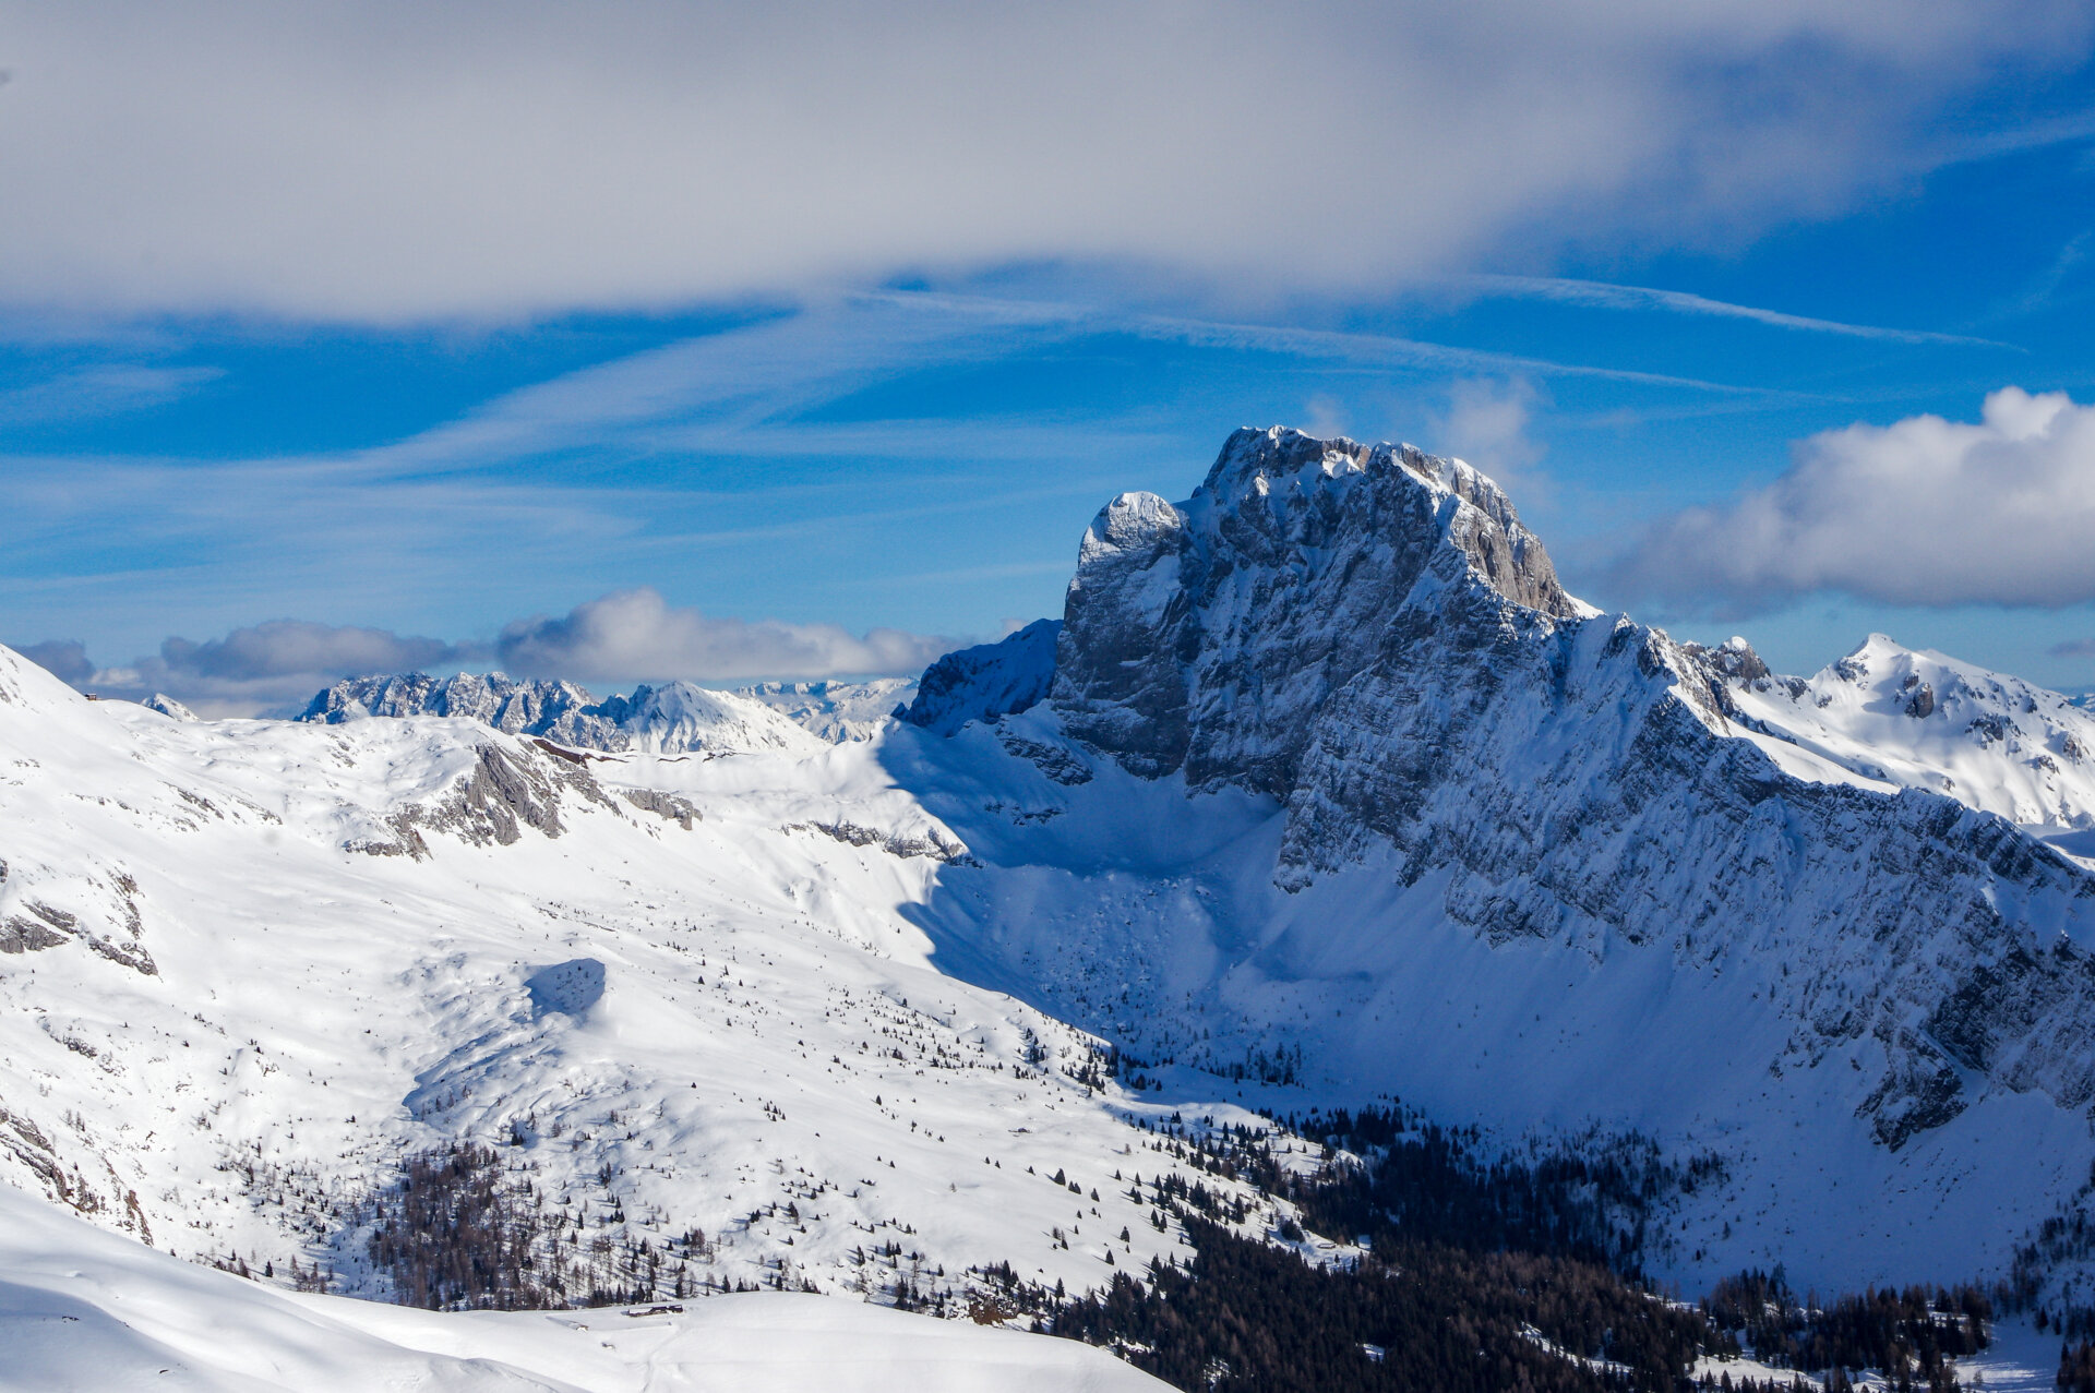
[[[1598,614],[1458,461],[1238,432],[1190,501],[1098,515],[1060,624],[913,693],[501,683],[193,721],[0,649],[0,1177],[73,1211],[0,1196],[27,1368],[69,1315],[186,1387],[329,1349],[400,1387],[846,1347],[1140,1383],[853,1307],[1182,1253],[1138,1175],[1278,1238],[1163,1129],[1387,1096],[1701,1165],[1645,1242],[1689,1292],[1990,1280],[2089,1202],[2095,718],[1881,637],[1783,679]],[[406,1295],[373,1236],[455,1144],[570,1290],[685,1309],[339,1301]],[[2085,1267],[2045,1255],[2045,1299]]]

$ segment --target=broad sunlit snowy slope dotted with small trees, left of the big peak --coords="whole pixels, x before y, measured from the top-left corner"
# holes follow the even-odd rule
[[[585,1278],[670,1253],[656,1295],[953,1303],[970,1265],[1087,1288],[1169,1251],[1112,1173],[1171,1171],[1129,1119],[1196,1098],[1098,1091],[1085,1037],[943,976],[911,907],[966,848],[794,733],[178,723],[0,651],[0,1177],[365,1295],[371,1198],[448,1140],[608,1240]]]

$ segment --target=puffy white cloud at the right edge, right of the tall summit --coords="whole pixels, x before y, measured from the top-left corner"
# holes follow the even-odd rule
[[[1896,605],[2095,599],[2095,406],[2003,388],[1978,423],[1909,417],[1804,440],[1766,488],[1640,538],[1613,589],[1745,614],[1812,591]]]

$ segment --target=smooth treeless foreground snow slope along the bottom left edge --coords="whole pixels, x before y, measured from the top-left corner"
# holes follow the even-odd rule
[[[195,1267],[0,1188],[0,1389],[1161,1389],[1104,1351],[819,1297],[434,1315]]]

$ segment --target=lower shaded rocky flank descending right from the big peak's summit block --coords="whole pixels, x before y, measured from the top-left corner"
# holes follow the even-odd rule
[[[1381,855],[1492,943],[1785,964],[1783,1064],[1875,1041],[1860,1114],[1892,1148],[1967,1106],[1961,1070],[2095,1100],[2095,878],[2064,857],[1936,794],[1785,775],[1722,729],[1691,654],[1626,620],[1420,658],[1316,721],[1284,886]]]

